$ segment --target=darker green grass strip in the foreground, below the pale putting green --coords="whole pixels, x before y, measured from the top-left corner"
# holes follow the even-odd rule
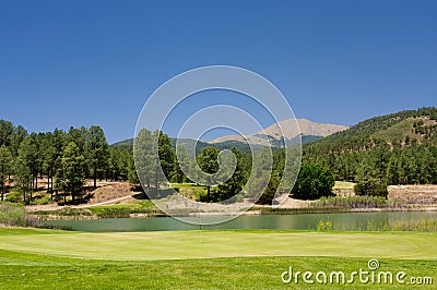
[[[401,285],[284,285],[281,274],[367,269],[367,258],[234,257],[184,261],[114,262],[60,258],[0,251],[0,289],[399,289]],[[379,259],[381,270],[434,277],[435,261]],[[420,289],[434,289],[421,286]],[[411,286],[409,286],[411,288]],[[408,289],[405,287],[404,289]]]

